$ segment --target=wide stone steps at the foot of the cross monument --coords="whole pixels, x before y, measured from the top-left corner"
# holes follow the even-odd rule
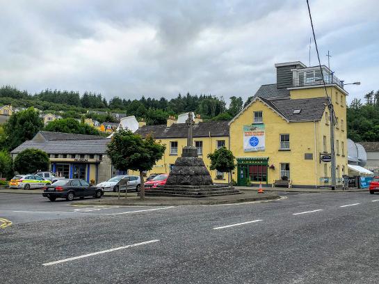
[[[146,196],[178,196],[178,197],[207,197],[229,194],[241,194],[238,189],[225,184],[212,185],[161,185],[156,189],[145,191]]]

